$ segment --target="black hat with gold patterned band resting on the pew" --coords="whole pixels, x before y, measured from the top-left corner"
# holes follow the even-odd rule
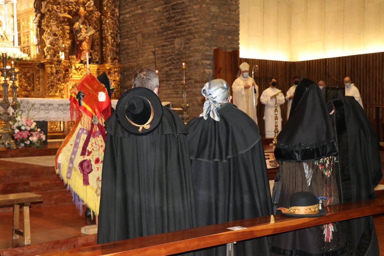
[[[290,208],[280,207],[284,215],[298,218],[316,218],[324,216],[326,211],[319,209],[318,198],[311,192],[297,192],[291,196]]]

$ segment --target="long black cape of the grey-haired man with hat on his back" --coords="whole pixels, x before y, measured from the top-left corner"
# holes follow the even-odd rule
[[[194,227],[187,128],[163,107],[146,135],[126,131],[111,115],[104,153],[98,244]]]

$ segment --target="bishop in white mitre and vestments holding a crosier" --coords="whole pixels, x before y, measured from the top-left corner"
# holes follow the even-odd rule
[[[249,76],[249,64],[243,62],[240,65],[241,75],[236,78],[232,84],[233,104],[238,109],[244,111],[257,123],[257,116],[253,108],[253,94],[255,94],[255,109],[257,107],[257,100],[259,97],[259,87],[256,85],[252,77]],[[255,86],[256,93],[254,93],[253,86]],[[256,118],[255,118],[256,116]]]

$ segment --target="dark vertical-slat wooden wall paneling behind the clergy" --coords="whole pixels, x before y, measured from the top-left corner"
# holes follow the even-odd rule
[[[234,55],[230,55],[234,56]],[[232,58],[230,57],[230,58]],[[268,88],[270,77],[276,77],[278,80],[278,88],[286,91],[292,86],[292,77],[298,75],[306,77],[315,82],[325,80],[327,86],[343,87],[344,77],[350,76],[352,82],[358,87],[364,110],[369,117],[371,123],[374,123],[375,113],[372,104],[384,104],[384,52],[369,53],[361,55],[343,56],[335,58],[326,58],[319,60],[306,60],[300,62],[282,62],[276,60],[261,60],[239,58],[237,64],[232,59],[223,58],[222,62],[230,62],[235,65],[234,69],[238,69],[238,65],[242,62],[248,62],[252,67],[257,64],[259,71],[255,73],[255,82],[259,86],[259,94]],[[232,71],[232,73],[235,73]],[[252,75],[252,73],[250,73]],[[331,76],[334,76],[336,82]],[[228,82],[229,83],[229,82]],[[231,83],[232,85],[232,83]],[[258,99],[258,124],[260,133],[264,135],[264,107]],[[281,114],[283,117],[283,125],[286,118],[286,103],[281,106]],[[383,111],[380,113],[380,118],[384,118]],[[376,131],[376,125],[374,130]]]

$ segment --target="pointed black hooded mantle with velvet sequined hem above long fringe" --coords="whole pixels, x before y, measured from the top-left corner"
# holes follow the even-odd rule
[[[302,78],[293,96],[290,117],[277,136],[275,157],[303,162],[336,154],[336,139],[321,90],[314,81]]]

